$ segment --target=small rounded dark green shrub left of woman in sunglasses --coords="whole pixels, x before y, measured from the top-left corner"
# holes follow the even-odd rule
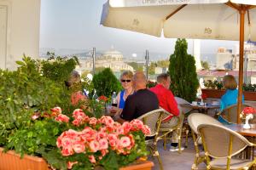
[[[119,92],[122,89],[119,80],[113,75],[110,68],[94,75],[92,82],[98,96],[110,97],[113,92]]]

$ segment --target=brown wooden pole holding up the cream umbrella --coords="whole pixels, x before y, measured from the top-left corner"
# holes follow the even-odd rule
[[[244,16],[246,9],[241,5],[240,14],[240,38],[239,38],[239,77],[238,77],[238,99],[237,99],[237,123],[240,124],[240,113],[242,103],[242,82],[243,82],[243,48],[244,48]]]

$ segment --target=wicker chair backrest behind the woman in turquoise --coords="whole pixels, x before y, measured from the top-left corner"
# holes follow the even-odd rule
[[[245,107],[252,107],[252,105],[242,104],[241,110]],[[219,115],[223,116],[228,122],[237,123],[237,105],[230,105],[221,111]]]

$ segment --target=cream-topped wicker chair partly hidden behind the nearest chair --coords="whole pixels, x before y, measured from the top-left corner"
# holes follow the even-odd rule
[[[221,122],[218,122],[212,116],[207,116],[201,113],[191,113],[188,117],[189,127],[191,128],[192,137],[195,145],[195,159],[191,169],[197,169],[197,166],[205,161],[205,153],[199,150],[198,145],[201,144],[201,136],[197,131],[197,127],[203,123],[217,124],[222,126]]]

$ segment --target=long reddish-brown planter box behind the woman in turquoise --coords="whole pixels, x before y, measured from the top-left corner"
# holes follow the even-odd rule
[[[220,99],[225,93],[225,90],[202,88],[201,92],[207,94],[207,98]],[[256,101],[256,92],[243,91],[242,94],[244,95],[245,100]]]

